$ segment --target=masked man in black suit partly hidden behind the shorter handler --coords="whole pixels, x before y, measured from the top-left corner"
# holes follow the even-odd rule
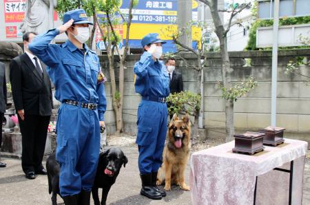
[[[180,91],[183,91],[182,74],[175,71],[176,59],[168,58],[165,65],[167,67],[167,72],[170,78],[170,83],[169,83],[170,94],[175,94],[175,93],[179,93]],[[172,119],[172,116],[173,114],[170,115],[170,120]]]

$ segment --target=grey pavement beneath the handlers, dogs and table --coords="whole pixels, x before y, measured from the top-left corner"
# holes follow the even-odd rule
[[[116,183],[112,186],[107,197],[107,204],[192,204],[190,192],[181,191],[174,186],[167,197],[154,201],[139,194],[141,181],[138,176],[138,152],[136,147],[121,147],[129,159],[126,167],[121,169]],[[308,154],[309,157],[309,154]],[[7,168],[0,169],[0,204],[1,205],[33,205],[51,204],[48,194],[48,178],[38,175],[35,180],[27,180],[21,170],[21,161],[11,158],[2,158],[8,164]],[[45,162],[44,162],[45,163]],[[310,204],[310,160],[307,158],[304,170],[303,205]],[[189,166],[186,171],[186,182],[189,182]],[[58,196],[58,203],[62,199]],[[93,204],[91,199],[91,204]]]

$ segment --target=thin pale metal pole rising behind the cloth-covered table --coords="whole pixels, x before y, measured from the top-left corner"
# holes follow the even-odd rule
[[[272,45],[272,78],[271,78],[271,126],[276,126],[277,114],[277,79],[278,79],[278,28],[280,0],[274,0],[273,10],[273,45]]]

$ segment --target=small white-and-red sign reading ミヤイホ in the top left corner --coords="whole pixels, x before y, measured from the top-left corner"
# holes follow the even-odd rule
[[[4,0],[4,19],[6,23],[23,21],[25,10],[25,0]]]

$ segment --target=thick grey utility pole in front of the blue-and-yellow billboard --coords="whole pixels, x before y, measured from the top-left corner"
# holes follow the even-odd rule
[[[192,47],[192,26],[189,24],[192,21],[192,0],[178,0],[178,29],[189,28],[188,33],[183,31],[183,36],[180,37],[180,42],[188,47]]]

